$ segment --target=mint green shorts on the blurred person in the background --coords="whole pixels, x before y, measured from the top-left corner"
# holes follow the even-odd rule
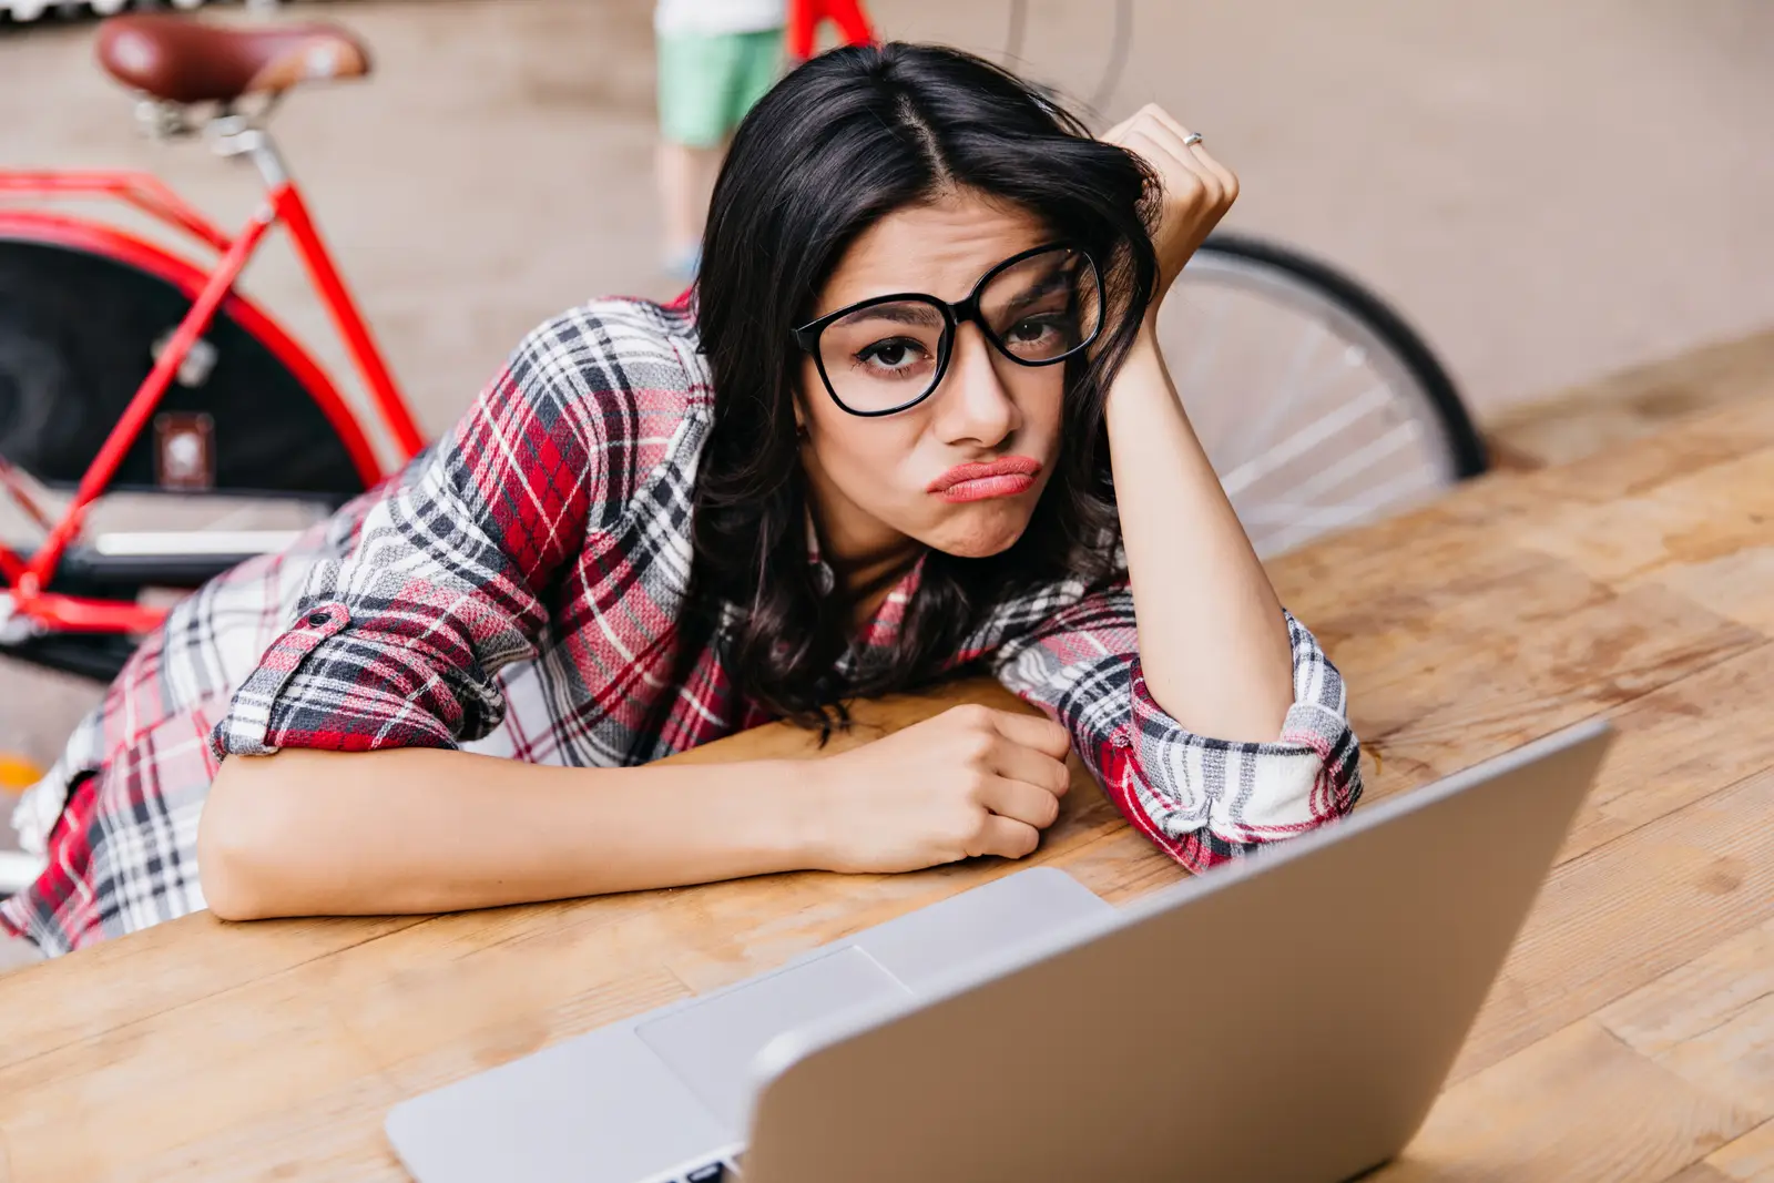
[[[782,69],[782,30],[662,34],[660,135],[688,147],[720,147]]]

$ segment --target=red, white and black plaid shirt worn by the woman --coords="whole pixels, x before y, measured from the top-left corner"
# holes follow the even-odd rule
[[[665,686],[711,390],[683,309],[600,302],[530,333],[461,424],[289,550],[179,603],[14,818],[46,869],[0,924],[66,952],[204,906],[197,819],[220,759],[463,747],[616,766],[766,722],[717,637]],[[844,662],[891,644],[917,573]],[[1146,692],[1126,584],[1001,605],[985,658],[1064,722],[1128,821],[1199,869],[1346,812],[1343,681],[1288,619],[1274,743],[1190,734]],[[658,734],[649,708],[672,695]]]

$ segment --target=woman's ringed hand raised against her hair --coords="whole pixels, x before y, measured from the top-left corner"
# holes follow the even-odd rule
[[[1158,225],[1150,227],[1151,245],[1158,252],[1158,296],[1148,316],[1157,312],[1158,302],[1181,275],[1196,247],[1238,200],[1238,177],[1233,170],[1208,156],[1199,140],[1189,144],[1189,137],[1190,131],[1155,103],[1141,106],[1103,135],[1103,142],[1118,144],[1144,160],[1164,186]]]

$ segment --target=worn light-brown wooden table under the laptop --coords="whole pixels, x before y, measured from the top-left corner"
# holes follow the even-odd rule
[[[1400,1179],[1774,1178],[1774,403],[1492,479],[1274,564],[1341,665],[1370,800],[1620,729]],[[898,727],[947,697],[878,704]],[[804,752],[763,729],[694,754]],[[1040,862],[1178,878],[1087,782]],[[406,1096],[731,983],[1006,864],[474,915],[208,915],[0,983],[12,1179],[404,1178]],[[0,1176],[5,1176],[0,1171]]]

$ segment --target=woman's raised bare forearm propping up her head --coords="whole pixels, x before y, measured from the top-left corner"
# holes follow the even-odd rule
[[[1146,688],[1197,734],[1279,738],[1293,702],[1286,619],[1150,321],[1116,376],[1107,422]]]

